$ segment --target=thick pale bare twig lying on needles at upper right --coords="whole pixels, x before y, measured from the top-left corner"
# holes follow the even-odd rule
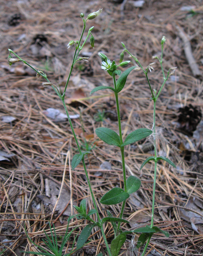
[[[179,36],[183,40],[185,56],[190,65],[193,76],[195,76],[195,77],[201,76],[201,72],[198,68],[198,65],[197,65],[193,55],[192,55],[192,48],[191,48],[191,44],[189,42],[187,35],[185,34],[185,32],[183,31],[183,29],[180,26],[177,25],[176,29],[178,30]]]

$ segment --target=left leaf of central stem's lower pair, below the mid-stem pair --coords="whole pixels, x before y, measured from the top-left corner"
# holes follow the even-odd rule
[[[101,204],[118,204],[126,200],[130,195],[126,193],[122,188],[112,188],[104,196],[102,196]]]

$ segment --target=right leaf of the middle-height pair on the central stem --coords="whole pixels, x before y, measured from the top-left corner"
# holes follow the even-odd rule
[[[126,137],[124,143],[121,145],[121,147],[126,146],[131,143],[134,143],[135,141],[144,139],[147,136],[149,136],[150,134],[152,134],[152,131],[149,129],[146,129],[146,128],[137,129],[127,135],[127,137]]]

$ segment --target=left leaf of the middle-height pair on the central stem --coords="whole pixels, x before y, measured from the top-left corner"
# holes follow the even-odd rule
[[[99,139],[103,140],[107,144],[120,147],[120,137],[113,130],[105,127],[99,127],[95,132]]]

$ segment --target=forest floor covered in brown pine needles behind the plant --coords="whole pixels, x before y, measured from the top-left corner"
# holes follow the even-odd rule
[[[55,108],[64,113],[61,101],[23,63],[9,67],[8,48],[46,72],[49,80],[63,89],[73,56],[67,43],[80,36],[80,13],[86,16],[102,7],[101,15],[87,22],[87,30],[94,26],[95,47],[85,44],[81,56],[90,57],[89,62],[78,62],[66,95],[71,115],[80,116],[73,118],[73,125],[81,144],[86,141],[89,146],[95,145],[85,161],[96,198],[99,201],[105,191],[123,185],[120,152],[98,140],[94,132],[101,125],[118,129],[111,92],[89,94],[95,86],[112,85],[111,77],[100,68],[98,52],[118,63],[123,42],[146,68],[154,61],[153,55],[160,56],[164,35],[164,70],[177,67],[177,71],[170,76],[157,102],[158,151],[177,168],[158,163],[155,225],[168,231],[170,237],[154,234],[148,255],[203,255],[202,2],[147,0],[142,8],[134,7],[133,2],[128,0],[121,11],[120,4],[107,0],[1,0],[0,250],[6,248],[3,255],[21,256],[25,253],[20,251],[37,251],[25,236],[25,227],[35,243],[42,243],[48,220],[55,223],[60,237],[68,216],[75,213],[72,205],[86,198],[88,208],[93,208],[82,165],[74,171],[70,167],[76,144],[67,119],[57,119],[53,110],[47,110]],[[193,6],[194,12],[181,9],[188,5]],[[197,67],[194,62],[189,63],[191,55],[187,56],[185,40],[191,46]],[[127,54],[124,60],[130,60]],[[163,82],[158,61],[154,69],[149,78],[153,89],[157,89]],[[153,105],[141,71],[129,75],[126,89],[120,95],[120,107],[125,135],[137,128],[152,128]],[[102,112],[105,116],[99,120],[98,113]],[[142,142],[129,145],[126,150],[127,175],[139,177],[142,183],[141,189],[127,201],[124,217],[130,224],[123,225],[123,229],[133,230],[150,223],[153,164],[145,165],[141,172],[139,169],[143,160],[153,154],[153,147],[150,140]],[[106,209],[98,205],[101,215],[106,216]],[[112,205],[108,209],[119,216],[120,207]],[[85,224],[83,220],[73,220],[71,225],[78,225],[74,236]],[[100,233],[97,229],[93,233],[92,241],[79,255],[101,252]],[[111,239],[113,230],[109,223],[105,233]],[[131,241],[131,236],[128,239]],[[66,252],[71,246],[72,240],[66,244]],[[130,254],[128,247],[126,242],[121,253]]]

